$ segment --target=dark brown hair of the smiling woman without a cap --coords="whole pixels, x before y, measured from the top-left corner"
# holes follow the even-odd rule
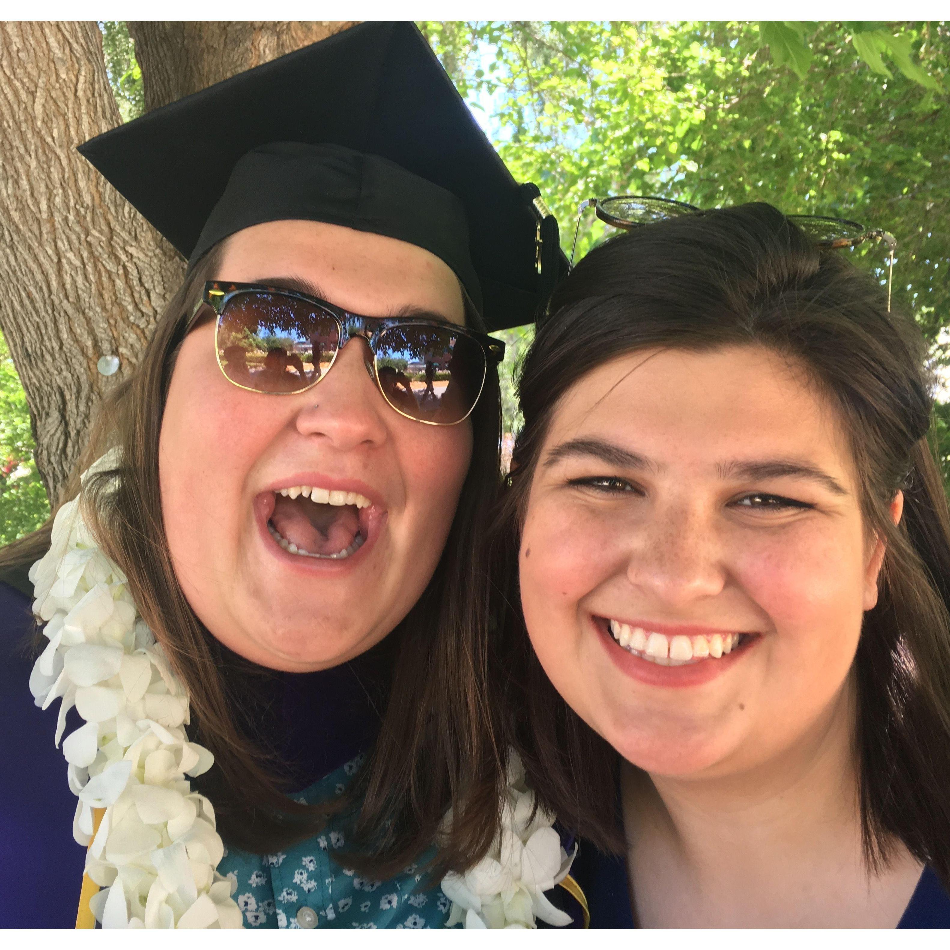
[[[491,542],[503,618],[496,675],[539,800],[599,847],[622,847],[617,752],[556,693],[519,609],[524,508],[561,397],[606,361],[648,347],[768,347],[804,367],[840,412],[865,526],[886,546],[854,661],[865,858],[880,867],[900,840],[950,883],[950,517],[927,442],[931,381],[913,320],[888,314],[874,280],[767,204],[615,237],[580,262],[549,313],[523,363],[524,426]]]

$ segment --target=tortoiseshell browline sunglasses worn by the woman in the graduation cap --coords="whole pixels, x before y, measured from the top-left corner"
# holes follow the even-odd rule
[[[312,389],[336,354],[363,337],[367,370],[400,415],[428,426],[465,421],[485,387],[488,367],[504,358],[504,343],[447,320],[360,316],[316,297],[260,284],[217,280],[204,292],[186,327],[210,308],[217,315],[215,352],[225,378],[242,390],[292,395]]]

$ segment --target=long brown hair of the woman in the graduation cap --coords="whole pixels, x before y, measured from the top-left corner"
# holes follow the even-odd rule
[[[116,470],[86,481],[85,517],[105,552],[123,568],[142,618],[185,683],[189,732],[215,755],[214,768],[199,786],[214,803],[226,842],[274,851],[316,833],[333,811],[352,807],[358,811],[347,854],[353,867],[390,876],[438,837],[437,867],[461,869],[491,843],[502,774],[494,712],[484,695],[487,579],[472,571],[500,478],[497,371],[489,371],[471,416],[472,461],[441,561],[422,598],[390,634],[396,658],[380,741],[347,796],[299,804],[288,797],[273,751],[253,728],[255,697],[264,694],[269,672],[227,650],[201,624],[175,577],[161,515],[165,400],[186,314],[204,282],[218,276],[221,248],[213,248],[185,276],[141,364],[104,402],[77,471],[112,446],[121,446],[123,456]],[[467,306],[466,320],[484,329]],[[79,491],[78,476],[70,487],[66,498]],[[39,558],[49,543],[50,524],[51,519],[0,552],[0,566]],[[456,821],[451,831],[440,832],[447,807],[454,808]]]

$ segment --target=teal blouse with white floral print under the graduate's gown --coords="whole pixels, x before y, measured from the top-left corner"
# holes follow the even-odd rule
[[[315,782],[298,796],[314,804],[340,795],[363,764],[364,756]],[[323,832],[276,854],[224,849],[218,871],[237,883],[234,899],[245,928],[444,927],[450,903],[442,889],[416,864],[389,881],[371,881],[340,864],[348,819],[333,816]],[[420,858],[425,864],[434,852]]]

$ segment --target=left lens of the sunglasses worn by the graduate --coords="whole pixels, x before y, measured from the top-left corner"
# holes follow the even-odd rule
[[[236,294],[218,316],[224,375],[256,392],[299,392],[330,369],[339,324],[306,300],[259,291]]]

